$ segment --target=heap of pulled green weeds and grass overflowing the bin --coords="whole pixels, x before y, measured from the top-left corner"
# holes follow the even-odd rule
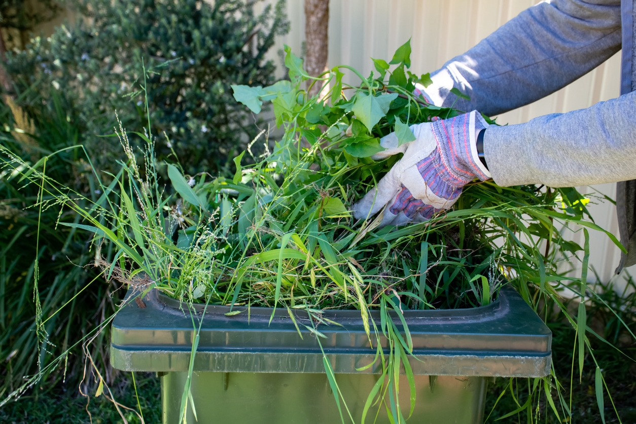
[[[321,317],[321,310],[360,310],[370,346],[377,350],[370,366],[381,362],[383,373],[363,416],[379,397],[380,407],[386,406],[394,422],[404,422],[397,404],[397,380],[404,369],[413,381],[408,359],[413,346],[406,322],[394,319],[389,311],[403,318],[402,311],[408,309],[482,306],[508,284],[535,310],[549,297],[567,312],[572,327],[585,328],[584,312],[572,317],[558,290],[569,285],[582,294],[586,289],[587,228],[604,231],[585,218],[588,200],[574,188],[501,188],[492,181],[473,182],[452,210],[427,222],[380,228],[384,212],[356,220],[352,205],[398,160],[369,158],[382,150],[380,137],[395,131],[400,142],[408,142],[414,138],[409,125],[450,118],[460,111],[426,105],[413,96],[413,84],[426,85],[430,79],[406,71],[408,43],[391,60],[394,69],[375,60],[378,78],[373,74],[364,78],[348,66],[312,78],[303,71],[300,58],[286,50],[289,80],[265,88],[233,86],[235,98],[256,113],[263,101],[272,101],[284,136],[271,152],[269,140],[259,138],[263,133],[252,140],[247,151],[235,158],[237,169],[231,180],[184,175],[167,165],[176,193],[169,196],[158,181],[153,135],[149,130],[127,133],[121,127],[117,133],[128,161],[120,163],[118,175],[108,175],[108,186],[103,173],[93,174],[102,192],[97,200],[60,185],[43,167],[29,167],[0,147],[6,156],[4,165],[38,187],[38,205],[45,205],[44,196],[51,196],[80,215],[81,222],[60,224],[92,231],[104,277],[126,282],[140,294],[156,288],[186,303],[302,308],[315,320],[297,325],[298,332],[309,331],[317,341],[324,337],[320,326],[333,325]],[[346,85],[342,71],[354,72],[361,83]],[[321,84],[322,95],[308,97],[307,81]],[[144,144],[142,164],[137,163],[129,136]],[[265,154],[251,153],[256,142],[265,144]],[[254,165],[244,169],[241,161],[246,153]],[[86,207],[80,207],[78,199],[85,200]],[[575,231],[583,228],[583,249],[565,240],[558,225]],[[106,261],[99,253],[104,240],[112,246]],[[583,250],[581,278],[558,273],[560,261],[577,260],[579,250]],[[380,322],[370,319],[371,309],[380,310]],[[289,315],[293,320],[291,311]],[[585,346],[589,350],[586,338],[578,341],[581,350]],[[326,357],[324,364],[340,408],[338,386]],[[557,410],[551,397],[550,404],[557,416],[560,412],[567,416],[567,402],[553,378],[554,374],[535,379],[529,403],[523,407],[532,407],[543,389],[550,393],[548,388],[556,384],[562,409]],[[378,392],[380,386],[384,388]],[[182,416],[189,390],[186,383]],[[597,390],[602,393],[602,386]],[[392,394],[385,397],[387,392]],[[411,387],[411,413],[414,402]]]

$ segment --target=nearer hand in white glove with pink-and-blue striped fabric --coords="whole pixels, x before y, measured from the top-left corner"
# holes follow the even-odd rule
[[[371,156],[382,160],[404,153],[387,175],[354,207],[354,217],[368,219],[387,203],[380,227],[431,219],[449,209],[474,179],[485,181],[490,172],[477,156],[476,135],[488,124],[477,111],[448,120],[411,125],[415,141],[397,146],[395,133],[382,137],[386,150]]]

